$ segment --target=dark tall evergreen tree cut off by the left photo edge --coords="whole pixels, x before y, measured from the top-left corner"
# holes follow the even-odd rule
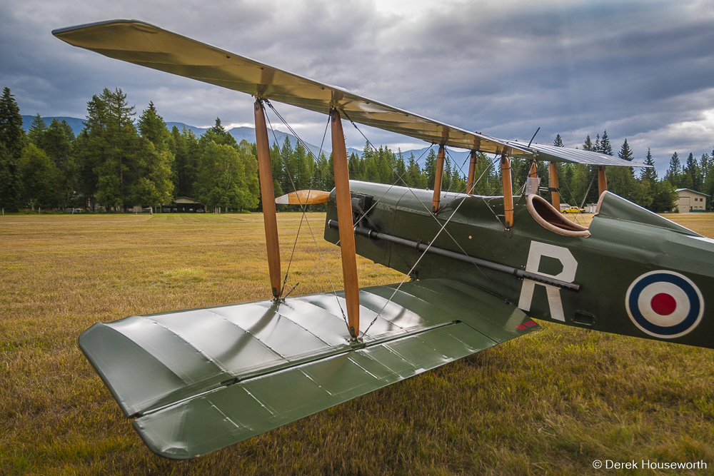
[[[5,87],[0,98],[0,207],[9,211],[16,211],[20,205],[18,163],[24,145],[20,108],[10,88]]]

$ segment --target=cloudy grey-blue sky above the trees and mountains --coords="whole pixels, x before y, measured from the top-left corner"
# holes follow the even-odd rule
[[[455,126],[566,146],[608,131],[659,171],[714,147],[714,2],[3,0],[0,87],[21,113],[84,118],[104,87],[166,121],[252,126],[250,96],[71,47],[51,30],[139,19]],[[281,106],[306,141],[326,118]],[[421,148],[366,129],[373,143]],[[328,134],[329,136],[329,134]],[[364,140],[346,127],[348,146]]]

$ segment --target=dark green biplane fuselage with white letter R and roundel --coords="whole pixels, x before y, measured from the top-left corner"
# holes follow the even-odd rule
[[[714,291],[714,240],[613,193],[603,197],[591,234],[584,238],[541,226],[525,197],[514,198],[515,224],[506,230],[502,197],[442,193],[441,209],[434,215],[432,191],[357,181],[351,182],[351,190],[373,197],[366,216],[355,223],[362,230],[572,282],[579,289],[516,278],[431,250],[423,253],[423,245],[417,250],[374,234],[357,234],[357,253],[375,263],[419,280],[463,280],[533,318],[714,348],[714,316],[706,302]],[[337,220],[333,196],[325,239],[337,243],[338,231],[330,226]]]

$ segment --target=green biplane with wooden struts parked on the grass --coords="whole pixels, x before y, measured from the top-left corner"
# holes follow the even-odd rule
[[[141,438],[174,459],[204,455],[538,329],[576,328],[714,348],[714,240],[607,191],[591,151],[504,141],[134,20],[53,31],[110,58],[251,94],[271,300],[97,323],[79,346]],[[266,104],[329,116],[333,191],[274,198]],[[349,181],[343,118],[438,146],[433,191]],[[466,193],[441,190],[445,148],[471,151]],[[473,194],[478,153],[503,196]],[[513,193],[511,158],[526,158]],[[483,160],[483,159],[481,159]],[[587,228],[559,213],[555,163],[598,167]],[[538,192],[550,168],[551,201]],[[286,298],[275,202],[327,203],[344,290]],[[356,254],[404,273],[360,288]],[[266,283],[267,284],[267,283]]]

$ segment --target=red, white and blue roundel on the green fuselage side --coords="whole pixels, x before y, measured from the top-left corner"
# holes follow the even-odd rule
[[[672,339],[697,327],[704,314],[704,298],[686,276],[673,271],[650,271],[630,284],[625,307],[640,330]]]

